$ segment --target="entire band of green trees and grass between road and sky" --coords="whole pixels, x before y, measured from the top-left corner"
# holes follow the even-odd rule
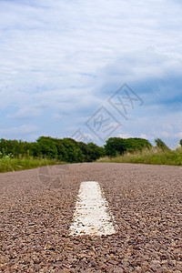
[[[153,147],[143,138],[110,137],[104,147],[72,138],[40,136],[35,142],[0,140],[0,172],[45,165],[78,162],[123,162],[182,165],[182,139],[177,150],[170,150],[159,138]],[[99,159],[100,158],[100,159]]]

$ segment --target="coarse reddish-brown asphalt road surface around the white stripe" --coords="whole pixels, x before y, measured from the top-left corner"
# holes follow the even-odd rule
[[[81,182],[115,233],[73,236]],[[0,272],[182,272],[182,167],[86,163],[0,175]]]

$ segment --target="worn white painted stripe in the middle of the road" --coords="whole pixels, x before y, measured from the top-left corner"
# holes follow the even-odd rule
[[[115,228],[112,223],[112,215],[108,212],[106,198],[98,182],[86,181],[80,185],[74,223],[70,227],[70,235],[111,235]]]

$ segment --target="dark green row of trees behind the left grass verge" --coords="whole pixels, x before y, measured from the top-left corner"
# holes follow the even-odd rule
[[[36,142],[22,140],[0,140],[2,157],[55,158],[68,163],[90,162],[104,156],[104,148],[90,142],[76,142],[72,138],[40,136]]]

